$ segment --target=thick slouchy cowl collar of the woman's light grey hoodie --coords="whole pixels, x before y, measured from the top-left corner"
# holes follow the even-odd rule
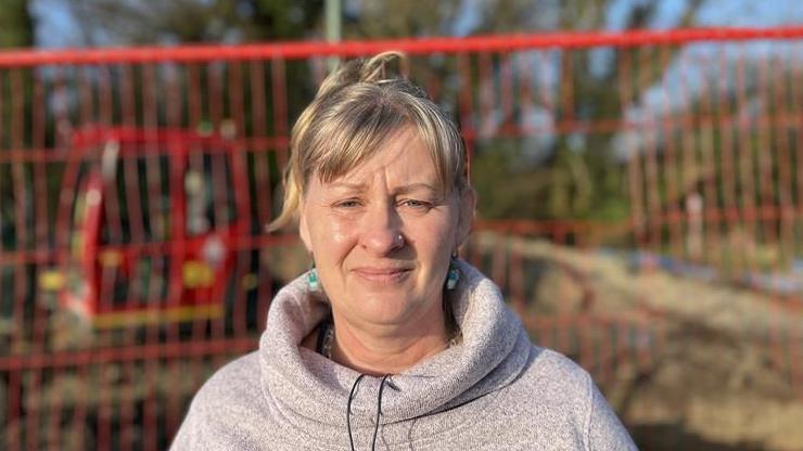
[[[424,423],[419,428],[428,429],[425,415],[493,398],[487,396],[510,384],[530,358],[532,345],[526,332],[496,285],[468,263],[457,265],[461,278],[449,296],[462,342],[387,378],[381,394],[382,425],[419,418]],[[343,430],[349,390],[359,376],[298,346],[329,309],[319,294],[310,293],[302,275],[277,294],[259,342],[263,396],[283,417],[313,436],[321,428]],[[380,381],[365,376],[360,382],[352,401],[355,427],[373,424]],[[466,415],[454,422],[448,415],[438,416],[438,428],[470,421]]]

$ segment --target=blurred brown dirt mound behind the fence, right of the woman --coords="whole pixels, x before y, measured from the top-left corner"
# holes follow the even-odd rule
[[[583,327],[595,317],[629,317],[652,331],[647,364],[619,361],[612,377],[597,378],[642,450],[803,449],[800,299],[641,271],[623,253],[494,233],[476,234],[471,247],[487,273],[517,261],[525,322],[534,315],[571,324],[565,318],[575,315]],[[502,284],[510,297],[512,285],[510,278]],[[598,360],[589,361],[595,374]]]

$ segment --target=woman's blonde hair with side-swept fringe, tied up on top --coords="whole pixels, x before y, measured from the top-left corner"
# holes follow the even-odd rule
[[[331,182],[371,157],[406,127],[418,130],[430,150],[441,194],[468,186],[466,146],[455,123],[400,75],[390,76],[400,52],[354,60],[327,77],[293,126],[284,170],[284,204],[268,231],[297,219],[309,178]]]

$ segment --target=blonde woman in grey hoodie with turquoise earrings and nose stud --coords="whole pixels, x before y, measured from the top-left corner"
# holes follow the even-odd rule
[[[278,229],[314,268],[259,350],[195,396],[175,450],[635,449],[588,374],[531,344],[457,258],[474,210],[455,124],[396,53],[332,74],[293,128]]]

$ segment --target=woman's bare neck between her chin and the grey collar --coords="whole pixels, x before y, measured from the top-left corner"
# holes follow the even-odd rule
[[[416,326],[358,327],[333,311],[332,360],[372,376],[398,374],[448,347],[449,337],[441,306],[436,314],[419,319]],[[435,312],[432,312],[435,313]]]

